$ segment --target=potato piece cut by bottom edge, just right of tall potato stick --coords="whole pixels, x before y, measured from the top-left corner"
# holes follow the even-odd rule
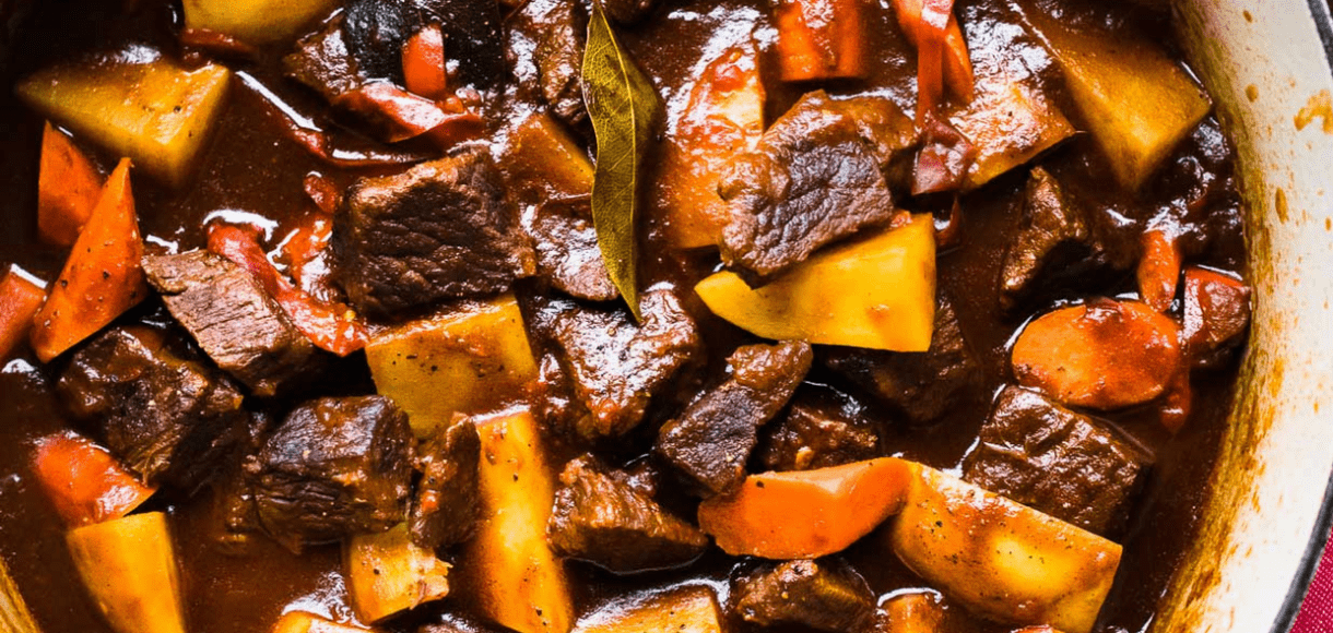
[[[576,633],[721,633],[713,590],[685,586],[632,604],[612,604],[579,621]]]

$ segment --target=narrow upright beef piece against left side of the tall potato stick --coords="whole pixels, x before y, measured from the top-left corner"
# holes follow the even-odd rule
[[[421,481],[408,516],[413,542],[435,550],[472,537],[481,512],[480,461],[481,438],[467,417],[459,416],[447,429],[417,445]]]

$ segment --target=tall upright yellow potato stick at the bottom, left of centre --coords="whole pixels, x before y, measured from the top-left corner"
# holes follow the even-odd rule
[[[555,472],[527,410],[479,420],[481,522],[457,572],[483,616],[519,633],[568,633],[573,601],[547,545]]]

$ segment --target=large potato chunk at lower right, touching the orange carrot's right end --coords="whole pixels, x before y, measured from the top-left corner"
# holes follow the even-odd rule
[[[977,614],[1088,633],[1120,545],[921,466],[889,530],[913,572]]]

